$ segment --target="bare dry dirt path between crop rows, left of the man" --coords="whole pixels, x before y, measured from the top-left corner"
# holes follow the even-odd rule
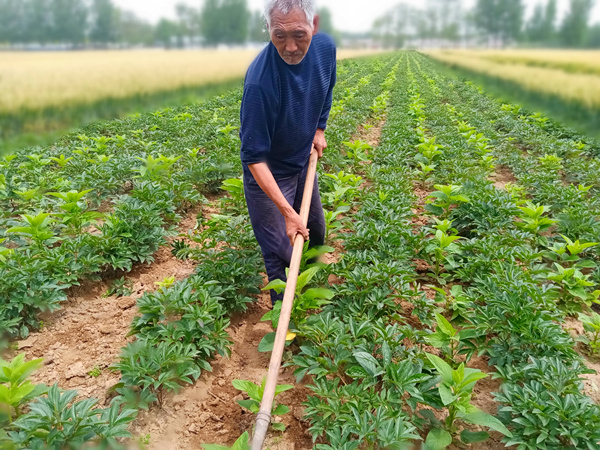
[[[199,211],[198,207],[188,212],[178,227],[181,232],[194,228]],[[119,374],[109,366],[117,361],[121,348],[133,340],[127,334],[138,313],[137,300],[156,290],[155,283],[166,277],[179,281],[193,273],[194,264],[176,259],[165,245],[154,254],[152,264],[136,265],[125,275],[132,283],[129,296],[105,297],[112,280],[86,281],[73,288],[62,308],[43,318],[42,330],[17,343],[18,351],[24,351],[27,359],[44,359],[32,381],[58,383],[63,389],[77,390],[80,398],[95,397],[101,405],[106,404],[107,391],[119,382]]]

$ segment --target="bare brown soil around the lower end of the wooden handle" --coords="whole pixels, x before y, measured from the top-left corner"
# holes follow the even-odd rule
[[[233,317],[228,329],[233,341],[231,357],[216,358],[212,372],[204,372],[193,386],[167,397],[162,409],[142,412],[131,427],[134,436],[149,434],[149,449],[178,450],[199,449],[203,443],[232,445],[244,431],[251,434],[255,416],[237,405],[237,400],[247,397],[233,387],[232,381],[260,383],[266,376],[270,353],[259,353],[257,348],[262,337],[272,331],[269,322],[260,322],[270,303],[268,293],[262,294],[247,312]],[[281,418],[286,431],[270,431],[265,448],[312,448],[301,406],[310,391],[296,383],[292,368],[280,371],[278,384],[294,385],[276,397],[276,402],[290,407],[290,413]]]

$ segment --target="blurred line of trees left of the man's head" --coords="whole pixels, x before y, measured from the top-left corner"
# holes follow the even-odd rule
[[[206,0],[175,6],[176,19],[156,25],[111,0],[0,0],[0,44],[125,45],[242,44],[267,39],[259,12],[246,0]]]

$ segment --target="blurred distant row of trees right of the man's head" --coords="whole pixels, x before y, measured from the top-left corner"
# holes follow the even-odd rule
[[[600,24],[590,25],[595,0],[570,0],[559,21],[556,0],[538,3],[525,20],[523,0],[427,0],[423,8],[400,3],[373,24],[373,37],[386,47],[429,43],[526,43],[571,48],[600,47]]]

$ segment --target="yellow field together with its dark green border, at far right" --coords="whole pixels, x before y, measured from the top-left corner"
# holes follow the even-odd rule
[[[600,137],[598,51],[444,50],[427,54],[455,76]]]

